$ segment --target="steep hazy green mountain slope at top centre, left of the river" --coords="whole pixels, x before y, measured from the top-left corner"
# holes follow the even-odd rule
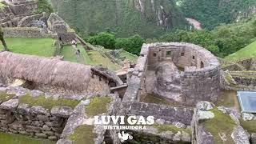
[[[185,23],[174,0],[50,0],[54,11],[82,34],[111,30],[146,38]]]

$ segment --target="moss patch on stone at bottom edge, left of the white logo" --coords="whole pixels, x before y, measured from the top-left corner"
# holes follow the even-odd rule
[[[94,126],[81,125],[74,130],[74,134],[68,136],[68,139],[73,141],[73,144],[94,144],[96,135],[93,132]]]

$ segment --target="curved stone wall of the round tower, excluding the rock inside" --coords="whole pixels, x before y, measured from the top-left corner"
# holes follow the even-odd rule
[[[182,67],[182,103],[194,105],[202,100],[217,100],[220,89],[218,59],[209,51],[190,43],[154,43],[142,46],[140,57],[132,72],[124,101],[138,101],[141,92],[146,92],[147,70],[154,70],[160,62],[174,62]]]

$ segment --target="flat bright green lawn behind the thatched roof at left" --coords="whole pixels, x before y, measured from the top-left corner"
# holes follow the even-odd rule
[[[54,55],[54,39],[51,38],[5,38],[11,52],[51,57]],[[0,50],[3,46],[0,45]]]

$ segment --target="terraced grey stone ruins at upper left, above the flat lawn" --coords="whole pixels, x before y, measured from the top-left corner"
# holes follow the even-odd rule
[[[0,10],[0,23],[6,38],[54,38],[56,42],[70,44],[81,38],[57,14],[35,14],[35,1],[7,1]],[[82,42],[85,43],[85,42]]]

